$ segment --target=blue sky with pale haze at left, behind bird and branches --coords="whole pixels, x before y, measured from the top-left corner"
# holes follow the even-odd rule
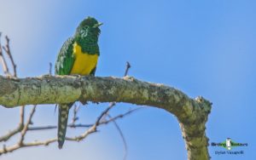
[[[248,144],[232,150],[244,151],[243,155],[216,155],[215,151],[226,150],[209,146],[212,159],[255,159],[255,9],[253,0],[3,0],[0,31],[11,39],[19,76],[34,77],[48,72],[49,62],[55,63],[61,44],[73,35],[81,20],[96,17],[104,23],[96,76],[121,77],[125,62],[130,61],[130,76],[165,83],[192,98],[204,96],[213,103],[207,122],[210,143],[230,137]],[[84,108],[81,122],[93,122],[107,105]],[[136,106],[119,104],[112,114],[132,107]],[[0,107],[0,134],[15,127],[17,110]],[[53,106],[38,106],[34,123],[55,124],[56,117]],[[118,123],[128,142],[127,159],[187,158],[172,114],[148,107]],[[100,130],[80,143],[66,142],[61,151],[53,144],[21,149],[2,158],[121,159],[124,148],[113,124]],[[67,134],[81,132],[83,129],[69,129]],[[29,135],[26,140],[41,140],[54,137],[55,131]]]

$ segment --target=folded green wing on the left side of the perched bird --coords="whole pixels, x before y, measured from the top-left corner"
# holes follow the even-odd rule
[[[69,75],[75,58],[73,57],[73,37],[69,37],[67,41],[62,45],[58,54],[58,58],[55,63],[55,74],[57,75]]]

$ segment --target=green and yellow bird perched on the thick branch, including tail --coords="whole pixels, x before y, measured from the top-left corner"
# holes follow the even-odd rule
[[[101,33],[95,18],[87,17],[77,27],[73,37],[62,45],[55,63],[56,75],[95,75],[100,50],[98,37]],[[74,103],[74,102],[73,102]],[[58,144],[61,149],[67,131],[68,111],[73,103],[59,104]]]

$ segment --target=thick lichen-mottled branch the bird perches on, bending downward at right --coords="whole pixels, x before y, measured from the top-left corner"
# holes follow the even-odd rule
[[[209,159],[205,133],[212,104],[202,97],[190,99],[181,91],[134,77],[0,76],[0,105],[69,103],[73,101],[127,102],[154,106],[174,114],[182,129],[188,159]]]

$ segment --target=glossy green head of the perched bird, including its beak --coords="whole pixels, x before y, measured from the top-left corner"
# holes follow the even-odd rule
[[[95,18],[87,17],[79,24],[76,30],[76,35],[79,35],[80,37],[87,37],[89,35],[98,37],[101,33],[99,28],[101,25],[102,23],[98,22]]]

